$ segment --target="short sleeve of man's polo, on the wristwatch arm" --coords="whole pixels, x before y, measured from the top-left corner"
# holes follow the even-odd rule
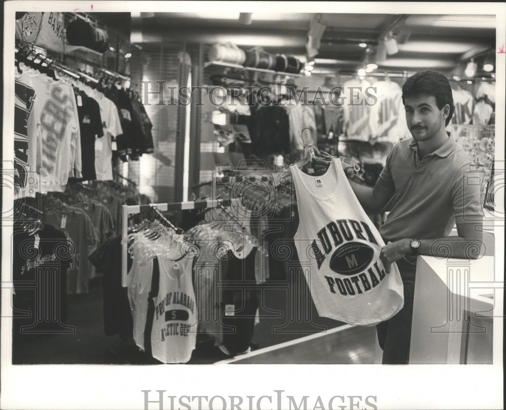
[[[483,171],[468,164],[457,172],[451,188],[451,198],[455,212],[455,223],[469,223],[483,217],[481,204],[481,184]]]

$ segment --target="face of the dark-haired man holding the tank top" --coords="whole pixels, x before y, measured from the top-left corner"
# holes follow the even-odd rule
[[[445,127],[444,111],[436,104],[436,97],[419,95],[404,99],[406,122],[415,141],[428,141],[434,137],[441,127]]]

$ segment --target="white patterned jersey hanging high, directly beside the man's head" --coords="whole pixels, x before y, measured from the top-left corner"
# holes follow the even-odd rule
[[[393,81],[376,81],[372,87],[376,89],[378,100],[371,107],[369,117],[371,135],[378,141],[396,143],[401,139],[397,127],[398,117],[404,115],[404,111],[399,112],[399,100],[402,100],[401,88]]]

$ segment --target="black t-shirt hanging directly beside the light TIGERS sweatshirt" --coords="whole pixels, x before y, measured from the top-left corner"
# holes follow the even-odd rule
[[[80,98],[79,98],[80,97]],[[104,136],[98,102],[85,93],[76,96],[79,131],[81,134],[82,179],[97,179],[95,173],[95,135]]]

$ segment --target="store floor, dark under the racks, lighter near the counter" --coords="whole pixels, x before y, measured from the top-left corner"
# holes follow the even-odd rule
[[[311,339],[311,335],[342,326],[343,323],[321,318],[311,300],[309,289],[302,277],[284,281],[270,281],[261,285],[260,323],[255,326],[251,348],[262,350],[294,341],[293,355],[286,349],[259,357],[252,362],[306,363],[314,355],[305,355],[315,349],[339,349],[339,338],[332,334],[325,338]],[[133,341],[122,342],[118,336],[106,336],[103,331],[103,294],[100,278],[90,283],[87,295],[68,297],[67,324],[75,326],[75,333],[60,335],[27,335],[13,341],[13,364],[156,364],[157,360],[139,352]],[[349,332],[347,332],[349,333]],[[324,333],[323,333],[324,334]],[[321,335],[323,335],[321,334]],[[338,335],[339,333],[336,333]],[[344,333],[343,333],[344,334]],[[349,336],[349,343],[365,354],[368,360],[371,350],[371,331]],[[340,336],[342,338],[342,336]],[[17,339],[17,338],[16,338]],[[214,346],[206,335],[199,335],[197,346],[189,364],[206,364],[223,361],[228,357]],[[325,341],[322,345],[322,341]],[[337,344],[336,344],[337,343]],[[362,345],[361,345],[362,344]],[[297,347],[295,347],[297,346]],[[325,347],[327,346],[327,347]],[[330,346],[330,347],[328,347]],[[276,358],[283,352],[282,358]],[[336,358],[342,362],[342,358]],[[246,361],[251,362],[251,361]],[[315,363],[319,361],[314,361]],[[328,362],[328,361],[327,361]],[[352,361],[353,362],[353,361]],[[361,361],[363,362],[363,361]]]

